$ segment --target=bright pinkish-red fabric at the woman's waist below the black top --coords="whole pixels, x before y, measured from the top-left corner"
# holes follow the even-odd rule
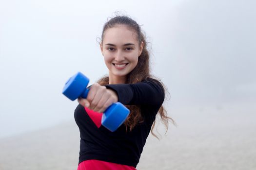
[[[86,160],[78,165],[78,170],[136,170],[132,166],[120,165],[99,160]]]

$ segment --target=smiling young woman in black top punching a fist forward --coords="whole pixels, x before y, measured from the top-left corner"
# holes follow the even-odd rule
[[[105,23],[100,50],[109,76],[91,85],[87,99],[78,99],[75,110],[80,131],[78,170],[136,170],[158,113],[168,126],[171,118],[162,106],[165,89],[149,73],[146,45],[140,26],[130,17],[118,16]],[[100,121],[114,102],[125,104],[130,115],[111,132]]]

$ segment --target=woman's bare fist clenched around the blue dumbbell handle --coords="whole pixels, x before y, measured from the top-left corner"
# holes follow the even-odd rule
[[[87,98],[78,98],[78,102],[84,107],[102,113],[111,104],[118,102],[118,95],[115,91],[95,83],[90,87]]]

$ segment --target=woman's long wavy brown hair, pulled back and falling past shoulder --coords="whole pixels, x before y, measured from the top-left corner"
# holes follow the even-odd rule
[[[117,25],[126,25],[128,28],[134,30],[137,33],[137,39],[139,44],[141,42],[144,43],[142,53],[138,57],[138,64],[137,66],[127,75],[126,84],[135,84],[138,82],[142,82],[147,78],[152,78],[153,76],[150,75],[150,68],[149,68],[149,51],[147,50],[147,42],[145,40],[144,34],[141,32],[140,26],[138,23],[127,16],[117,16],[111,18],[107,21],[103,27],[103,31],[101,34],[101,43],[104,38],[104,33],[107,29],[113,28]],[[159,79],[158,79],[159,81]],[[109,84],[109,77],[105,76],[98,80],[98,84],[100,85],[108,85]],[[161,83],[163,85],[163,83]],[[165,86],[163,85],[165,88]],[[165,88],[166,91],[166,88]],[[129,129],[130,131],[139,123],[143,122],[143,118],[140,113],[140,107],[138,105],[126,105],[126,107],[131,111],[128,118],[125,120],[124,124],[126,126],[126,130]],[[166,127],[166,131],[168,129],[168,120],[171,120],[172,123],[175,123],[172,118],[167,116],[167,112],[163,105],[159,108],[158,114],[160,115],[160,120]],[[153,132],[155,127],[156,121],[154,121],[151,129],[151,133],[153,136],[156,136]],[[156,136],[158,138],[158,136]]]

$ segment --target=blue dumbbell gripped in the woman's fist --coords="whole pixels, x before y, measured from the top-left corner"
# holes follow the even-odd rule
[[[86,88],[88,83],[89,79],[82,73],[78,72],[64,85],[62,94],[72,101],[79,97],[86,99],[89,92],[89,89]],[[130,110],[122,103],[113,103],[103,113],[101,124],[111,132],[114,132],[128,117],[129,113]]]

